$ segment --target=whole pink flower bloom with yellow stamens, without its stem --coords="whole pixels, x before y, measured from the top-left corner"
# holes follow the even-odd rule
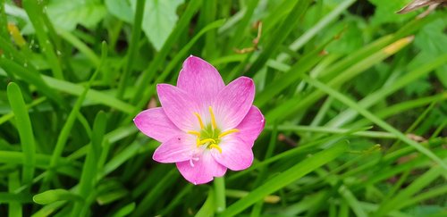
[[[255,85],[240,77],[225,86],[219,72],[190,56],[183,63],[177,87],[156,86],[162,107],[145,110],[135,125],[161,142],[153,159],[176,163],[191,183],[207,183],[227,168],[241,171],[253,163],[251,147],[264,129],[262,113],[253,104]]]

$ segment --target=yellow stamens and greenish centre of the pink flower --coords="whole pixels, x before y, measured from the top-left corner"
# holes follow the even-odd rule
[[[215,123],[215,113],[213,113],[213,108],[209,106],[208,110],[211,117],[211,123],[205,125],[200,114],[194,113],[198,118],[200,131],[190,130],[188,133],[197,137],[197,146],[205,146],[208,149],[215,148],[222,153],[222,148],[219,146],[221,139],[229,134],[239,132],[239,129],[229,129],[226,131],[218,129],[217,124]]]

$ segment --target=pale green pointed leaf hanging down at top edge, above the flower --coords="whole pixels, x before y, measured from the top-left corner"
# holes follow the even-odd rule
[[[144,6],[142,29],[152,45],[159,51],[169,37],[178,16],[175,13],[183,0],[147,0]],[[137,1],[131,0],[132,9],[136,10]]]

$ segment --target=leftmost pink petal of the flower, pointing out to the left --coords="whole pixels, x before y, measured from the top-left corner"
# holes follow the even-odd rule
[[[137,128],[149,138],[159,142],[167,141],[181,133],[173,121],[169,120],[162,108],[152,108],[139,113],[133,119]]]

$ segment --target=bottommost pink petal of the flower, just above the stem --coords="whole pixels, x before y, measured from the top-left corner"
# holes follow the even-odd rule
[[[221,177],[225,174],[226,168],[215,162],[215,159],[209,151],[204,151],[197,161],[190,161],[176,163],[181,175],[194,185],[207,183],[214,179],[214,177]]]

